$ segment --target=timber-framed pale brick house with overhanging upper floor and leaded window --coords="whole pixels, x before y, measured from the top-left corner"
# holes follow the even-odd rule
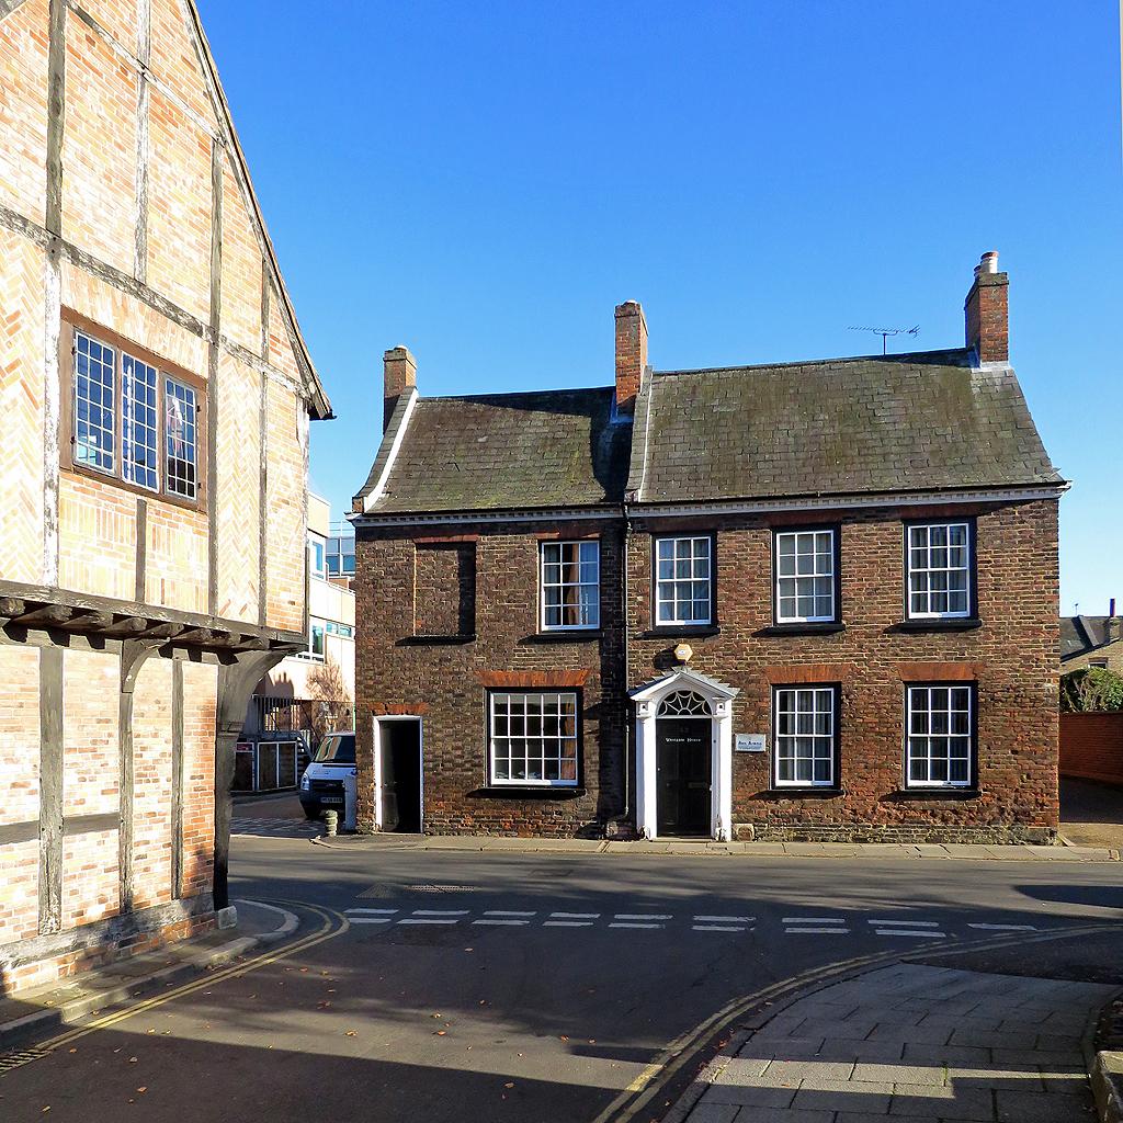
[[[11,990],[227,903],[246,701],[307,647],[329,405],[191,0],[7,0],[0,57]]]

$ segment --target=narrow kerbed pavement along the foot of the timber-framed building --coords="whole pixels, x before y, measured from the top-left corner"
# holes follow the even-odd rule
[[[0,1053],[277,943],[292,935],[300,923],[287,910],[263,902],[236,901],[234,905],[237,923],[232,928],[216,928],[190,940],[0,997]]]

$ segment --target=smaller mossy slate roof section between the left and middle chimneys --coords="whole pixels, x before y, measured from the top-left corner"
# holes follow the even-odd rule
[[[619,505],[632,427],[611,422],[612,396],[604,386],[421,398],[385,490],[367,513]],[[387,437],[404,405],[405,395]],[[376,486],[387,446],[357,497]]]

